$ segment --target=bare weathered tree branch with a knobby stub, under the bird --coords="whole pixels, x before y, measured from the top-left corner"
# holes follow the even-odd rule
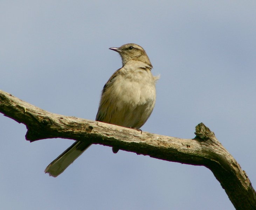
[[[204,124],[194,139],[180,139],[54,114],[0,90],[0,112],[27,127],[30,142],[64,138],[90,141],[166,161],[209,168],[236,209],[256,209],[256,193],[247,174]]]

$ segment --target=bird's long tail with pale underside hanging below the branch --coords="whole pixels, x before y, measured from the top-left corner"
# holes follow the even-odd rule
[[[74,162],[89,146],[90,142],[76,141],[68,149],[66,149],[58,158],[51,162],[45,173],[50,176],[60,175],[72,162]]]

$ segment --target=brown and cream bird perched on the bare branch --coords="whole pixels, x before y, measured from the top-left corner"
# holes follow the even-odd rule
[[[103,87],[96,121],[133,128],[138,131],[150,117],[156,100],[153,68],[146,51],[138,44],[111,47],[122,58],[122,68],[116,70]],[[76,141],[51,162],[45,173],[57,177],[74,162],[91,142]],[[116,153],[118,148],[113,148]]]

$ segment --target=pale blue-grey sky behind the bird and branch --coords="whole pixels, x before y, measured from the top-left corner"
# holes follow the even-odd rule
[[[141,45],[155,109],[143,131],[194,138],[203,122],[256,186],[256,1],[1,1],[0,89],[49,112],[94,120],[121,58]],[[233,210],[212,172],[92,145],[63,174],[73,141],[30,143],[0,114],[0,203],[13,210]]]

